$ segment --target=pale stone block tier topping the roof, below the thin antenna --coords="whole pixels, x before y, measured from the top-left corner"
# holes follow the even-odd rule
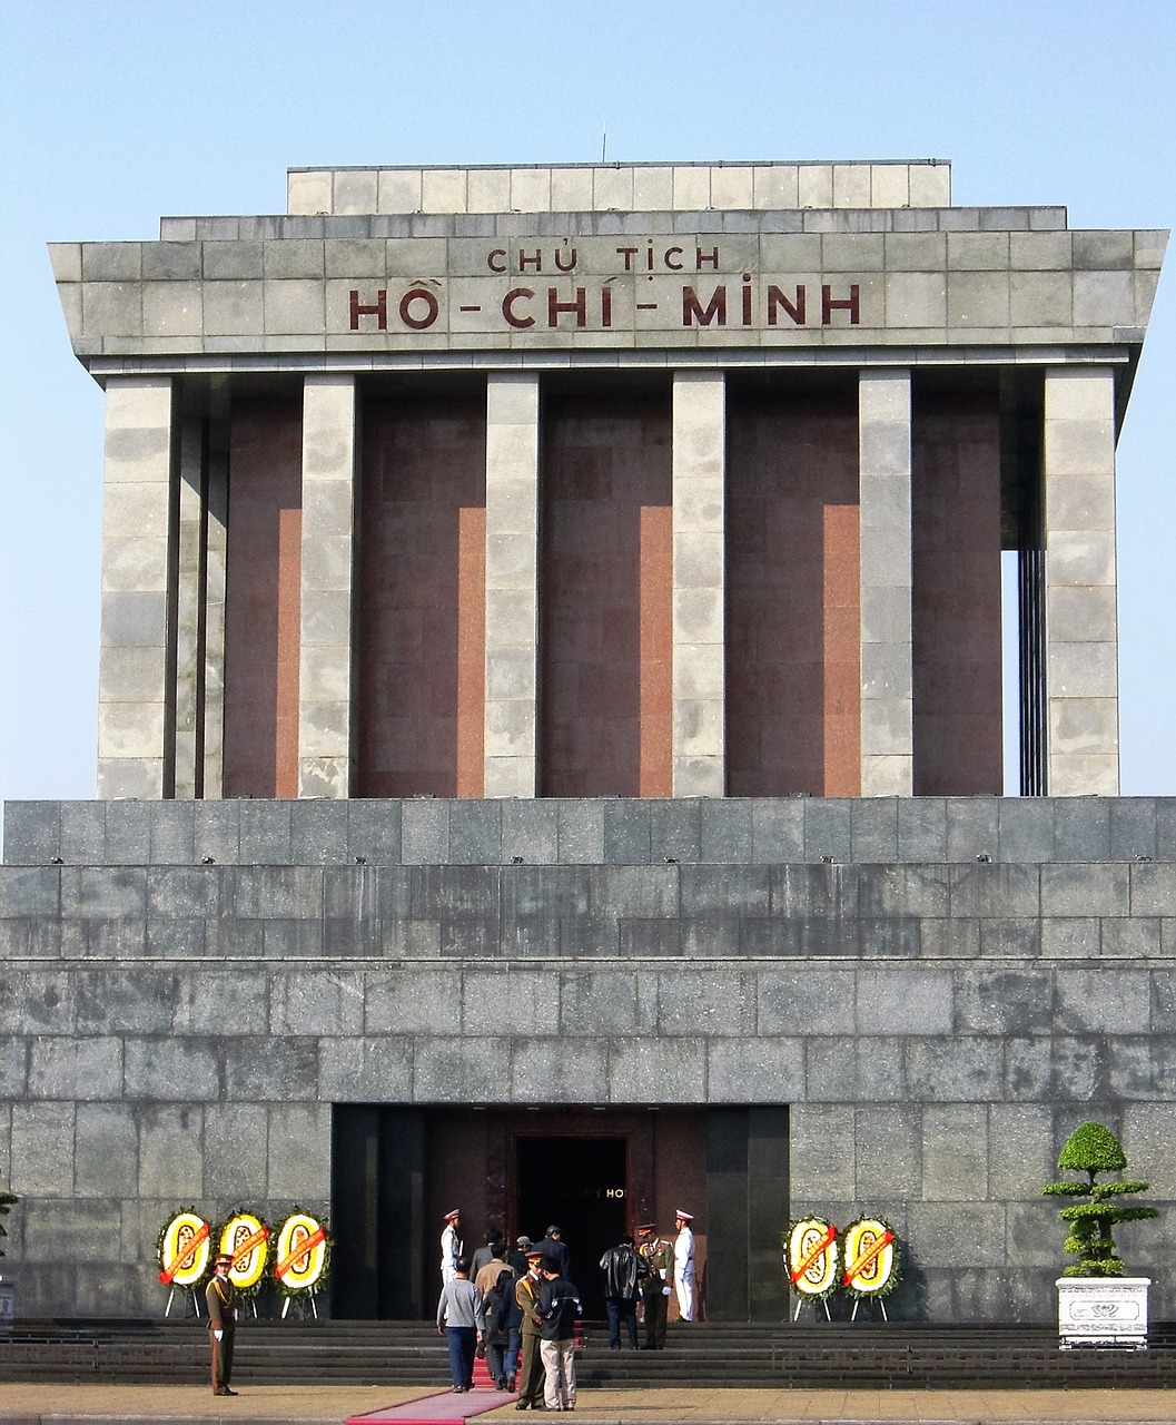
[[[750,208],[945,208],[951,164],[730,162],[290,168],[286,211],[631,212]]]

